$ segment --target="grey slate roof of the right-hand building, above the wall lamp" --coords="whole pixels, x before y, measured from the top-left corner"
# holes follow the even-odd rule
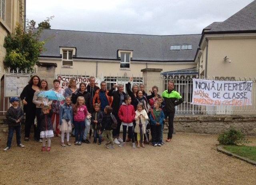
[[[203,32],[256,31],[256,0],[223,22],[214,22]]]

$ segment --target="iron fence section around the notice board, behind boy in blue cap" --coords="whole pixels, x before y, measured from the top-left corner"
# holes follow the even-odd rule
[[[5,112],[8,110],[8,108],[11,106],[11,104],[9,103],[10,97],[9,96],[5,96],[4,94],[4,88],[5,88],[5,84],[4,84],[4,77],[9,75],[9,76],[13,76],[13,77],[27,77],[27,76],[32,76],[35,75],[36,71],[28,71],[27,69],[25,70],[21,70],[19,68],[16,68],[15,70],[11,70],[10,68],[7,69],[2,69],[0,67],[0,77],[1,77],[1,85],[0,85],[0,115],[4,115]],[[22,91],[22,89],[24,87],[17,87],[20,88],[20,91]],[[22,89],[21,89],[22,88]],[[19,93],[20,93],[19,91]],[[18,93],[18,89],[17,89],[17,97],[20,96],[20,94]],[[20,102],[20,105],[22,105],[22,102]]]

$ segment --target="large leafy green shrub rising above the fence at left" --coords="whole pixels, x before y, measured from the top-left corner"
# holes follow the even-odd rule
[[[49,22],[53,17],[45,20]],[[26,31],[22,25],[16,24],[13,33],[8,34],[4,38],[4,47],[6,48],[6,56],[4,58],[5,67],[16,70],[34,70],[38,57],[45,50],[45,41],[40,41],[40,34],[43,28],[35,30],[36,22],[30,20],[27,22]]]

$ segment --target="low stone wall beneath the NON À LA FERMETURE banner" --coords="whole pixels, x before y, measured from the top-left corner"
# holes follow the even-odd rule
[[[248,136],[256,136],[256,115],[176,115],[174,118],[176,132],[220,134],[231,126]]]

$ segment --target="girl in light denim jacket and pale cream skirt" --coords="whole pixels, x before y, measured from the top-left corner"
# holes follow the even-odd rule
[[[67,145],[71,146],[69,142],[69,133],[72,130],[71,124],[73,123],[73,110],[71,106],[71,97],[67,96],[66,102],[60,107],[60,131],[61,131],[61,146],[64,144],[64,135],[66,132]]]

